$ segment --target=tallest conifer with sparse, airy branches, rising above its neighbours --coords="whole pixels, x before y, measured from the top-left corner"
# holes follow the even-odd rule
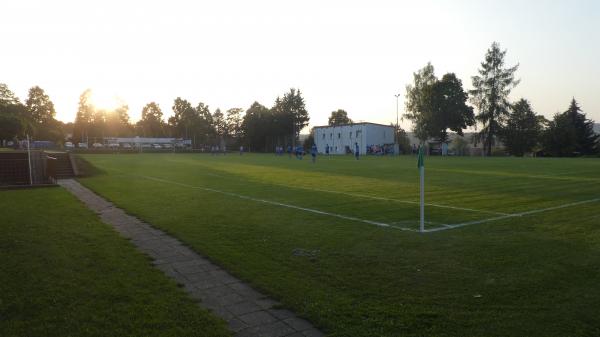
[[[481,63],[479,75],[473,76],[473,87],[470,91],[471,101],[479,111],[477,120],[483,124],[479,138],[484,143],[485,153],[492,154],[494,137],[501,130],[500,120],[508,114],[510,103],[508,95],[520,80],[515,80],[515,72],[519,65],[506,68],[504,57],[506,50],[500,50],[497,42],[488,49],[485,61]]]

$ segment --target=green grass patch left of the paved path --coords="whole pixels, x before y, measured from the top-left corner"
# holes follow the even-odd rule
[[[0,336],[228,336],[61,188],[0,191]]]

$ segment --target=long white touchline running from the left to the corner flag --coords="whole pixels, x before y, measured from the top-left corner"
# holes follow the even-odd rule
[[[301,210],[301,211],[305,211],[305,212],[310,212],[310,213],[315,213],[315,214],[320,214],[320,215],[328,215],[328,216],[332,216],[332,217],[336,217],[336,218],[340,218],[340,219],[344,219],[344,220],[364,222],[364,223],[367,223],[367,224],[370,224],[370,225],[379,226],[379,227],[390,227],[390,228],[400,229],[400,230],[403,230],[403,231],[416,232],[415,229],[394,226],[394,225],[390,225],[390,224],[387,224],[387,223],[384,223],[384,222],[366,220],[366,219],[356,218],[356,217],[353,217],[353,216],[347,216],[347,215],[342,215],[342,214],[337,214],[337,213],[330,213],[330,212],[320,211],[320,210],[312,209],[312,208],[305,208],[305,207],[300,207],[300,206],[294,206],[294,205],[284,204],[284,203],[277,202],[277,201],[252,198],[252,197],[245,196],[245,195],[242,195],[242,194],[220,191],[220,190],[216,190],[216,189],[208,188],[208,187],[200,187],[200,186],[193,186],[193,185],[188,185],[188,184],[182,184],[182,183],[178,183],[176,181],[171,181],[171,180],[166,180],[166,179],[161,179],[161,178],[155,178],[155,177],[144,176],[144,175],[140,175],[140,177],[145,178],[145,179],[149,179],[149,180],[154,180],[154,181],[166,183],[166,184],[172,184],[172,185],[177,185],[177,186],[181,186],[181,187],[199,189],[199,190],[203,190],[203,191],[224,194],[224,195],[227,195],[227,196],[230,196],[230,197],[236,197],[236,198],[245,199],[245,200],[251,200],[251,201],[255,201],[255,202],[261,202],[263,204],[270,204],[270,205],[276,205],[276,206],[281,206],[281,207],[287,207],[287,208],[297,209],[297,210]]]

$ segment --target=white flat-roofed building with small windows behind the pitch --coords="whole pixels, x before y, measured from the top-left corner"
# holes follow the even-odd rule
[[[315,144],[319,153],[329,146],[331,154],[353,153],[358,144],[360,154],[367,153],[367,146],[394,144],[394,127],[375,123],[353,123],[338,126],[316,126]]]

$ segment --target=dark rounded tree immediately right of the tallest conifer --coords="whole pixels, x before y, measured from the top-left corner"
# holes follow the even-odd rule
[[[521,157],[533,150],[542,131],[539,117],[524,98],[512,106],[500,132],[500,139],[508,153]]]

